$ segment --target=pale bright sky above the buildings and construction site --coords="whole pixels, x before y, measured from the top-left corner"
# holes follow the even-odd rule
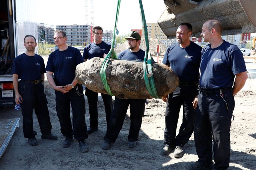
[[[36,22],[49,25],[84,25],[90,21],[90,1],[86,21],[86,0],[36,0]],[[166,6],[163,0],[142,0],[147,23],[157,23]],[[93,25],[103,30],[113,30],[116,19],[117,0],[94,0]],[[131,29],[142,29],[139,0],[121,0],[117,29],[119,35]]]

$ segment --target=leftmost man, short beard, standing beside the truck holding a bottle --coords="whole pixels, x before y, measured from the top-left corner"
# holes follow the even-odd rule
[[[26,52],[14,59],[12,81],[15,91],[15,102],[21,105],[23,116],[23,134],[29,139],[29,145],[38,145],[33,130],[33,109],[38,118],[42,139],[57,140],[57,136],[51,134],[51,122],[47,100],[44,95],[44,60],[35,54],[36,39],[32,35],[24,38]],[[18,81],[18,79],[21,79]]]

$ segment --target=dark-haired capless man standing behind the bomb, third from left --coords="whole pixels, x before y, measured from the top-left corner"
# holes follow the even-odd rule
[[[88,44],[84,48],[83,59],[84,61],[90,60],[93,57],[103,58],[107,55],[111,49],[111,45],[102,41],[103,30],[102,27],[93,27],[93,39],[94,41]],[[90,127],[87,130],[87,134],[91,134],[98,130],[98,93],[94,92],[86,87],[85,95],[89,103],[89,114],[90,114]],[[110,119],[112,111],[112,96],[101,93],[101,97],[105,106],[106,121],[107,125]]]

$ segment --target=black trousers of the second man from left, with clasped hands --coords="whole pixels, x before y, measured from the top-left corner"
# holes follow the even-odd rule
[[[76,85],[75,88],[65,94],[62,94],[60,91],[55,91],[55,94],[56,111],[60,121],[60,131],[63,136],[72,137],[74,135],[77,140],[87,139],[87,127],[84,117],[85,100],[82,85]],[[70,118],[70,104],[72,107],[72,124]]]

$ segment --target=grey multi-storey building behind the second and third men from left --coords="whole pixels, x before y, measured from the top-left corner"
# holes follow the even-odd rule
[[[84,46],[90,43],[90,25],[57,25],[56,29],[65,31],[69,46]]]

